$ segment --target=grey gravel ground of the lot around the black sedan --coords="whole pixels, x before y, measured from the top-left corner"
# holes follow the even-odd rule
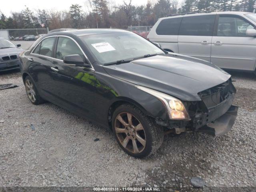
[[[51,103],[28,100],[20,73],[0,74],[0,186],[256,186],[256,77],[232,73],[240,106],[232,130],[165,136],[154,156],[125,154],[112,132]],[[35,130],[32,130],[31,124]],[[99,138],[99,141],[94,141]],[[190,189],[191,190],[191,189]]]

